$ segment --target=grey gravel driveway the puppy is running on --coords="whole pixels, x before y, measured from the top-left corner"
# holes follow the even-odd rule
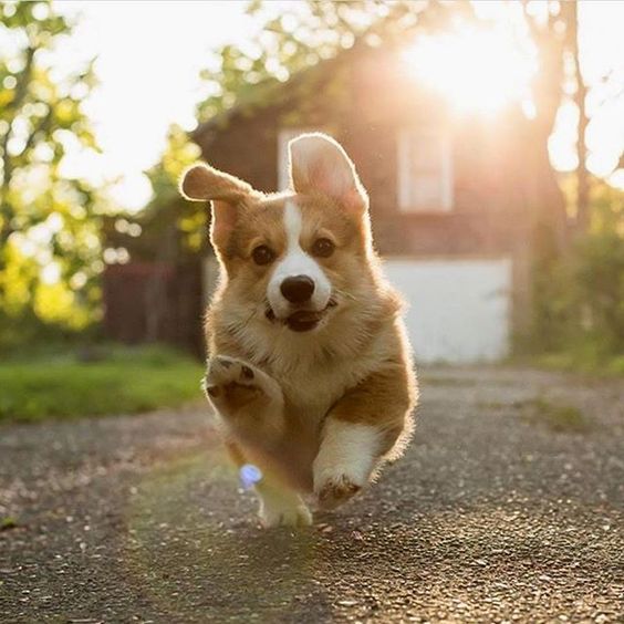
[[[407,456],[298,533],[202,406],[0,428],[0,620],[624,622],[624,383],[423,377]]]

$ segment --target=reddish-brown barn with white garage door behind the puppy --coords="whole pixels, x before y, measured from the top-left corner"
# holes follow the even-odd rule
[[[368,190],[376,247],[409,304],[417,360],[476,362],[505,357],[529,323],[527,127],[518,108],[454,115],[414,80],[399,49],[361,44],[268,102],[202,124],[194,139],[211,165],[271,191],[288,186],[289,139],[309,131],[336,138]]]

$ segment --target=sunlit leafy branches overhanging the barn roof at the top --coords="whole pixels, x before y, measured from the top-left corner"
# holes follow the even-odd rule
[[[207,97],[197,107],[199,122],[235,105],[272,102],[281,83],[358,40],[377,44],[416,30],[441,29],[454,18],[474,19],[469,3],[438,0],[309,0],[279,10],[251,0],[248,13],[262,23],[259,34],[247,45],[215,51],[200,76]]]

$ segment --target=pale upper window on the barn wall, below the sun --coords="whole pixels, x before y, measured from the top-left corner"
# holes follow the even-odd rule
[[[453,209],[453,154],[447,132],[417,128],[399,134],[398,207],[402,212]]]

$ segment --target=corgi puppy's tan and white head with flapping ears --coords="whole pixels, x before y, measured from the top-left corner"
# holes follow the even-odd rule
[[[212,201],[210,239],[228,275],[228,300],[264,323],[308,332],[370,282],[368,199],[329,136],[302,135],[289,154],[285,194],[264,196],[204,164],[185,173],[180,188],[189,199]]]

